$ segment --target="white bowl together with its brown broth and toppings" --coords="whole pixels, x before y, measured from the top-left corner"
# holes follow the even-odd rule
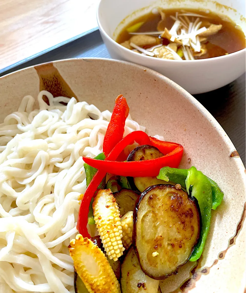
[[[97,20],[114,59],[151,68],[191,94],[245,72],[245,1],[101,0]]]

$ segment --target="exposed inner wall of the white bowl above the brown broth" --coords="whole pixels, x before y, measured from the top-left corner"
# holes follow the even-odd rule
[[[246,35],[245,1],[242,0],[102,0],[98,9],[98,21],[113,40],[121,30],[135,18],[149,13],[154,7],[210,9],[222,17],[229,17],[238,24]]]

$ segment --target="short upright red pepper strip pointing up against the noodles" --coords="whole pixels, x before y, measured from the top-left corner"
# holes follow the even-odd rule
[[[115,100],[113,113],[103,141],[102,149],[105,156],[108,156],[115,145],[122,139],[128,114],[129,107],[126,99],[119,95]]]

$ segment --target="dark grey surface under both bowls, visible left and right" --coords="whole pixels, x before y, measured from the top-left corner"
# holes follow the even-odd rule
[[[81,57],[110,58],[98,30],[5,71],[0,76],[42,62]],[[245,74],[223,88],[195,95],[195,98],[209,110],[226,131],[245,165]]]

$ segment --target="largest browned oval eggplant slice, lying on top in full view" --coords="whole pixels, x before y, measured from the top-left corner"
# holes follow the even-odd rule
[[[190,258],[200,235],[197,206],[173,185],[154,185],[141,194],[133,213],[133,244],[146,275],[164,279]]]

